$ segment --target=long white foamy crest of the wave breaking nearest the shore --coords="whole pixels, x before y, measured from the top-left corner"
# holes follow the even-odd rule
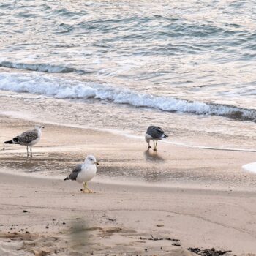
[[[43,94],[61,99],[108,99],[114,103],[129,104],[135,107],[158,108],[165,111],[197,113],[201,115],[229,116],[238,113],[239,117],[253,120],[255,110],[246,110],[227,105],[211,105],[204,102],[189,102],[173,97],[157,97],[142,94],[130,89],[117,88],[106,84],[66,80],[35,73],[0,74],[0,89],[6,91]]]

